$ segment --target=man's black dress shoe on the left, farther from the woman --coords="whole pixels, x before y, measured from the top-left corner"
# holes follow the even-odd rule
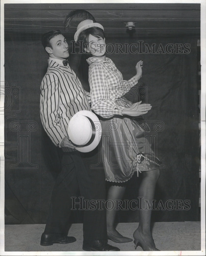
[[[75,237],[67,237],[61,234],[42,234],[40,244],[42,246],[53,245],[53,243],[73,243],[76,241]]]

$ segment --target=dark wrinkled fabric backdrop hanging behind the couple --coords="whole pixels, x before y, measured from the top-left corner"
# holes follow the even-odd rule
[[[165,126],[156,133],[157,156],[165,167],[161,169],[155,199],[162,202],[163,207],[152,212],[153,221],[199,220],[197,39],[142,39],[149,46],[153,43],[159,46],[161,43],[163,48],[168,43],[187,43],[190,44],[189,54],[107,55],[122,72],[124,80],[135,75],[135,65],[139,60],[144,61],[139,83],[147,88],[143,102],[147,101],[152,105],[152,109],[144,115],[144,120],[148,121],[151,131],[154,122],[160,121]],[[106,43],[132,44],[137,43],[137,40],[141,39],[106,38]],[[85,55],[71,54],[70,66],[89,91],[85,58]],[[11,35],[10,38],[5,38],[5,81],[7,88],[11,88],[8,92],[13,95],[11,107],[5,111],[7,224],[45,223],[52,188],[61,168],[61,150],[45,134],[39,114],[40,83],[47,69],[47,59],[40,36],[14,38]],[[15,98],[14,94],[18,97]],[[5,95],[5,104],[8,97],[9,95]],[[129,94],[127,98],[135,101]],[[15,123],[20,126],[15,126]],[[28,128],[29,123],[32,123],[33,128]],[[18,144],[22,136],[26,136],[30,142],[30,148],[25,153],[28,157],[26,161],[18,160],[18,150],[21,150]],[[27,166],[26,162],[29,162]],[[135,173],[128,181],[124,199],[137,199],[140,180],[141,175],[137,178]],[[164,209],[167,200],[189,200],[190,209]],[[80,210],[72,213],[71,222],[82,222],[82,217],[83,212]],[[117,221],[138,222],[139,211],[121,210]]]

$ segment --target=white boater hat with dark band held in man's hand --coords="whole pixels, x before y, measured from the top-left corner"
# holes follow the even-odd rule
[[[88,110],[72,116],[68,125],[68,136],[80,152],[90,152],[101,139],[101,124],[98,117]]]

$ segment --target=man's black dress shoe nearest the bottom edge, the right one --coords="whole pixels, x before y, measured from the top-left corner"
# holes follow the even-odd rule
[[[111,246],[105,240],[84,241],[84,251],[120,251],[119,248]]]

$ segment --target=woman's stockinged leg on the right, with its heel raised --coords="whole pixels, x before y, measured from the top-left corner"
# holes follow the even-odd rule
[[[155,194],[155,187],[157,180],[160,176],[160,170],[151,170],[148,172],[143,172],[143,179],[139,187],[139,197],[142,198],[142,209],[146,210],[140,210],[140,222],[139,226],[137,228],[136,235],[139,232],[140,236],[143,238],[145,244],[149,246],[150,248],[155,247],[154,240],[152,238],[151,230],[150,230],[150,221],[151,221],[151,209],[147,209],[148,205],[146,205],[145,200],[149,202],[151,205],[152,200],[154,198]],[[134,232],[134,238],[135,238],[135,232]]]

